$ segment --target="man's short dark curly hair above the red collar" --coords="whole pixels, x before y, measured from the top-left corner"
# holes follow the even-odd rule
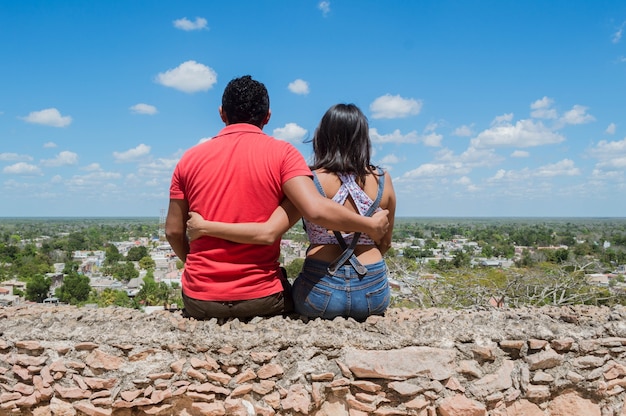
[[[248,123],[262,128],[270,109],[265,85],[250,75],[231,80],[222,95],[222,111],[229,124]]]

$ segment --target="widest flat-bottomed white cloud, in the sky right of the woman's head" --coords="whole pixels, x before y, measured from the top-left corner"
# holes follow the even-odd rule
[[[553,132],[541,122],[520,120],[515,124],[500,122],[471,140],[474,147],[533,147],[561,143],[565,137]]]

